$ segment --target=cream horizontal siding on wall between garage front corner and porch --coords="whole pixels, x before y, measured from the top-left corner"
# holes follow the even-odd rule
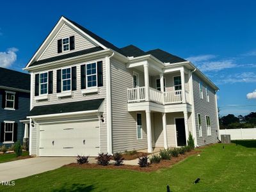
[[[145,111],[138,111],[143,119],[143,139],[137,140],[136,113],[128,112],[127,88],[132,88],[132,70],[124,63],[111,60],[113,152],[147,148]]]

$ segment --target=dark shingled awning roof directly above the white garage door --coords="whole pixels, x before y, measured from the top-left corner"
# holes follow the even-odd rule
[[[104,99],[83,100],[78,102],[66,102],[46,106],[36,106],[29,112],[28,116],[50,115],[57,113],[71,113],[77,111],[90,111],[99,109]]]

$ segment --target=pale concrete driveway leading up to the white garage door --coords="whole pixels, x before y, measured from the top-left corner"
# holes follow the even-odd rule
[[[74,162],[76,162],[76,157],[34,157],[0,163],[0,182],[55,170],[65,164]]]

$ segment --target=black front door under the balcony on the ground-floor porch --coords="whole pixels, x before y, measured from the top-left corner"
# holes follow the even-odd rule
[[[176,132],[177,132],[177,145],[185,146],[186,145],[186,132],[185,132],[185,122],[184,118],[176,118]]]

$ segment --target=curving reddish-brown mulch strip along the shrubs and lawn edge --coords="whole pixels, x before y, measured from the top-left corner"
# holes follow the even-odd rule
[[[108,166],[102,166],[95,163],[88,163],[88,164],[77,164],[77,163],[71,163],[66,164],[64,167],[72,167],[72,168],[89,168],[89,169],[115,169],[115,170],[134,170],[139,172],[154,172],[156,170],[159,170],[161,168],[168,168],[172,166],[173,164],[177,164],[180,161],[186,159],[189,156],[193,156],[195,154],[199,154],[201,151],[199,150],[193,150],[191,152],[186,152],[184,155],[179,155],[178,157],[172,157],[171,160],[161,160],[160,163],[157,164],[150,164],[148,167],[140,168],[140,166],[135,165],[128,165],[124,164],[122,166],[115,166],[114,164],[109,164]]]

